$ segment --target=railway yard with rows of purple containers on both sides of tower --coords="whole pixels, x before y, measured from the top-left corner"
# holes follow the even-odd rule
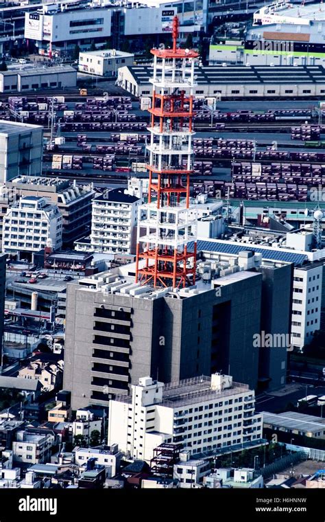
[[[308,201],[325,180],[323,116],[315,100],[220,101],[214,111],[195,100],[193,196]],[[106,186],[146,177],[149,114],[122,89],[1,96],[0,117],[44,126],[45,177]]]

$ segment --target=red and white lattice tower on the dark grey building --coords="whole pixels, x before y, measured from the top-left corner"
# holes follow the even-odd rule
[[[136,246],[136,282],[173,288],[195,284],[197,237],[197,216],[189,199],[194,63],[199,55],[179,49],[177,38],[175,16],[173,48],[151,51],[148,202],[139,208]]]

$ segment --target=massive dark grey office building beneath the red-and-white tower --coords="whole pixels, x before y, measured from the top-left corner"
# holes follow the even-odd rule
[[[64,389],[71,390],[73,409],[108,405],[116,394],[128,395],[130,385],[143,374],[167,383],[230,370],[234,381],[254,389],[260,375],[272,387],[281,383],[287,352],[279,350],[274,359],[270,351],[262,363],[262,350],[253,345],[253,338],[262,326],[278,328],[274,296],[282,267],[274,268],[279,277],[275,276],[273,300],[267,303],[264,268],[259,266],[261,258],[254,258],[249,258],[250,270],[241,258],[240,266],[226,273],[217,266],[215,278],[206,282],[199,276],[190,288],[136,284],[134,265],[70,284]],[[289,328],[290,288],[283,292],[281,321]],[[263,323],[262,299],[267,311]]]

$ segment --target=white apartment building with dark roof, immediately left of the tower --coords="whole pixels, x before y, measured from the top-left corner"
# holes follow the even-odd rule
[[[91,251],[134,253],[136,224],[141,200],[123,188],[104,192],[93,199]]]

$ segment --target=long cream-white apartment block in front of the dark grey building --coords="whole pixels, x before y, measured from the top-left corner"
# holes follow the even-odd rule
[[[132,397],[110,400],[108,445],[150,461],[163,443],[181,443],[192,455],[261,444],[262,416],[254,391],[213,374],[164,385],[151,377],[132,385]]]

